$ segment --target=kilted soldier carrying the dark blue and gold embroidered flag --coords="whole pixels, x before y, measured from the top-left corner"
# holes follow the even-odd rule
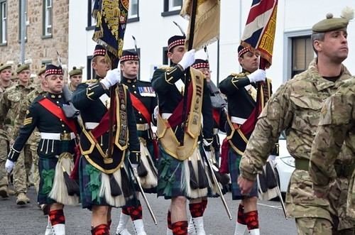
[[[84,125],[80,136],[82,157],[78,158],[80,196],[82,207],[92,211],[92,234],[108,235],[111,207],[123,207],[129,200],[137,203],[129,159],[136,168],[140,148],[129,89],[118,83],[119,69],[109,70],[111,60],[102,45],[95,47],[92,67],[97,79],[92,84],[78,85],[72,95],[72,104],[80,110]],[[114,102],[110,101],[110,87],[114,87]],[[111,154],[108,154],[112,144],[109,143],[109,106],[114,109]]]

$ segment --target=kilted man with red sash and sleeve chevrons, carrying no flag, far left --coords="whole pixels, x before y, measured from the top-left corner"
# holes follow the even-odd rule
[[[39,95],[29,107],[6,160],[6,170],[10,173],[26,141],[37,127],[41,136],[37,151],[40,173],[38,203],[49,205],[48,224],[51,226],[45,234],[53,232],[60,235],[65,234],[64,204],[79,202],[79,187],[65,177],[73,166],[77,123],[62,111],[62,106],[67,105],[62,96],[62,75],[61,67],[47,65],[45,87],[48,94]]]

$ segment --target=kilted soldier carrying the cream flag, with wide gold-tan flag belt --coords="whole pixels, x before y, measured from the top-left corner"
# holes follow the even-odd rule
[[[175,35],[168,40],[168,58],[173,67],[155,70],[152,82],[159,103],[158,196],[171,200],[170,234],[187,234],[186,200],[194,204],[192,217],[200,217],[201,198],[207,196],[209,187],[198,141],[203,139],[209,151],[213,126],[211,99],[202,72],[190,68],[187,72],[191,78],[185,79],[185,70],[195,62],[195,50],[185,53],[184,45],[183,36]],[[187,115],[182,117],[182,114]]]

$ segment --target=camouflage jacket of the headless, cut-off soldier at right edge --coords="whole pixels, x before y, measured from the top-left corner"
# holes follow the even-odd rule
[[[326,192],[329,182],[337,177],[335,167],[339,152],[350,159],[342,163],[344,173],[351,175],[355,155],[355,77],[346,80],[332,97],[326,100],[320,114],[320,123],[313,141],[310,176],[315,190]],[[343,144],[344,143],[344,144]],[[349,168],[349,170],[347,169]]]

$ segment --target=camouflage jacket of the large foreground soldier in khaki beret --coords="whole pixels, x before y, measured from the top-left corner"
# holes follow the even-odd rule
[[[283,130],[290,155],[310,159],[322,104],[343,80],[350,77],[350,72],[342,65],[342,73],[336,82],[325,80],[318,73],[315,58],[305,72],[285,82],[269,99],[258,118],[241,158],[241,175],[249,180],[256,179]]]

